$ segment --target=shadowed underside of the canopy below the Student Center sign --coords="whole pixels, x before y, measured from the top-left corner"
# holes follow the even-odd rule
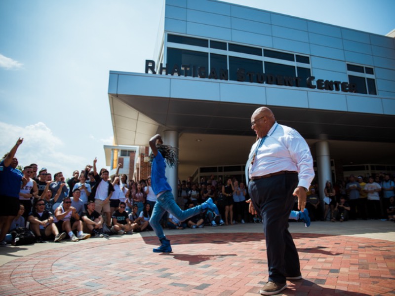
[[[176,130],[180,178],[197,167],[243,164],[255,140],[250,127],[259,105],[110,94],[117,145],[148,146],[157,132]],[[395,116],[268,106],[280,124],[309,143],[328,139],[331,158],[343,164],[395,164]]]

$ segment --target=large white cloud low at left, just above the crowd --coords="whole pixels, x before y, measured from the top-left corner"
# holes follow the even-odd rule
[[[64,143],[42,122],[26,127],[0,122],[0,130],[0,156],[8,152],[19,137],[23,138],[16,153],[21,166],[37,163],[39,168],[45,167],[52,174],[63,171],[70,177],[73,170],[86,162],[84,157],[62,152]]]

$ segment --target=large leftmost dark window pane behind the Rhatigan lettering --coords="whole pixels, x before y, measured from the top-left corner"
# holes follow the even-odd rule
[[[173,71],[174,65],[178,66],[181,75],[186,76],[198,76],[198,68],[205,67],[206,74],[208,76],[208,53],[206,52],[199,52],[193,50],[186,50],[186,49],[178,49],[178,48],[167,48],[167,64],[169,69],[167,69],[167,73],[171,74]],[[190,67],[188,72],[185,74],[184,70],[181,69],[182,65],[188,65]],[[193,67],[195,67],[195,72],[192,73]]]

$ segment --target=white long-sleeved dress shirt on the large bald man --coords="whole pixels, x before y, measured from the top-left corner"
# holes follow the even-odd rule
[[[259,143],[260,139],[252,145],[250,158]],[[280,171],[298,172],[298,186],[305,188],[310,187],[315,175],[313,157],[305,139],[293,128],[276,122],[258,148],[253,164],[249,164],[249,177],[259,177]]]

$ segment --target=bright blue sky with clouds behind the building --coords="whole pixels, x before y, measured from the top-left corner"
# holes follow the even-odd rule
[[[196,0],[198,1],[198,0]],[[393,0],[228,2],[385,35]],[[1,0],[0,154],[70,177],[112,145],[109,71],[144,72],[162,0]],[[2,154],[1,154],[2,155]]]

